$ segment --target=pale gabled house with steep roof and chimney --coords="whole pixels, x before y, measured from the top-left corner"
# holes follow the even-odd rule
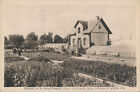
[[[89,48],[91,46],[106,46],[110,42],[109,35],[112,34],[102,18],[97,16],[96,20],[77,20],[73,31],[69,34],[69,48]]]

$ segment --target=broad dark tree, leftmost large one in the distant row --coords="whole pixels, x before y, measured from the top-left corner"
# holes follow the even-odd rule
[[[9,42],[17,48],[20,48],[24,42],[24,37],[22,35],[9,35]]]

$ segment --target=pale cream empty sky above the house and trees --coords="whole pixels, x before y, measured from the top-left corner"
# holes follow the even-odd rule
[[[88,21],[100,16],[113,33],[110,36],[112,41],[127,39],[130,35],[135,38],[136,2],[86,1],[3,0],[3,34],[21,34],[26,37],[30,32],[35,32],[38,36],[53,32],[54,35],[65,37],[77,20]]]

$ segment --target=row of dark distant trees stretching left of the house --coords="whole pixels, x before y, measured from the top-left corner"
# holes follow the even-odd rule
[[[24,38],[23,35],[9,35],[9,37],[4,37],[4,45],[6,49],[24,48],[24,49],[36,49],[38,45],[43,45],[46,43],[66,43],[67,37],[63,38],[59,35],[53,37],[53,33],[43,34],[40,37],[34,32],[31,32]]]

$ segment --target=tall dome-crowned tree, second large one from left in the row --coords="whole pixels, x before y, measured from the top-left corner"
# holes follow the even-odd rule
[[[37,49],[38,46],[38,36],[34,33],[31,32],[27,35],[22,48],[24,49]]]

